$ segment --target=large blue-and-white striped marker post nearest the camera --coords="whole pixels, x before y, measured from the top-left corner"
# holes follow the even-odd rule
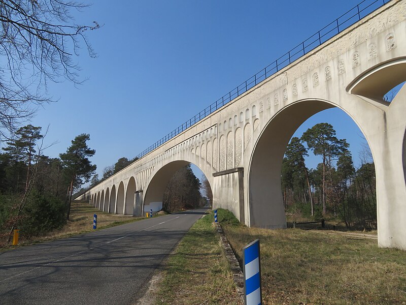
[[[244,302],[245,305],[262,304],[261,261],[259,257],[259,239],[243,249],[244,262]]]

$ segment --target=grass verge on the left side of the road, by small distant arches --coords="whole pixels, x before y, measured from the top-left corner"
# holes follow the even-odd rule
[[[24,236],[20,235],[18,246],[8,246],[5,248],[0,248],[0,251],[7,251],[20,246],[29,246],[34,243],[67,238],[73,235],[95,231],[93,230],[93,214],[97,214],[97,230],[144,219],[142,217],[109,214],[90,206],[89,202],[73,201],[71,205],[70,220],[67,221],[61,229],[48,232],[46,235],[40,235],[31,238],[24,238]]]

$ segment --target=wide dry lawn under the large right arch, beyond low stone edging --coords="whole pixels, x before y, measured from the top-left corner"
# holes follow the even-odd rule
[[[406,304],[406,252],[328,231],[247,228],[218,218],[236,254],[259,238],[264,304]]]

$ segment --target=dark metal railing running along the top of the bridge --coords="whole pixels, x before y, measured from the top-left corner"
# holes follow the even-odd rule
[[[195,116],[187,120],[185,123],[183,123],[181,126],[173,130],[171,133],[168,133],[166,136],[156,141],[150,147],[142,151],[142,153],[137,155],[136,158],[141,159],[155,148],[171,140],[173,137],[177,136],[181,132],[193,126],[201,119],[210,115],[214,111],[220,109],[221,107],[231,102],[236,97],[239,97],[243,93],[247,92],[247,90],[256,86],[257,84],[264,81],[268,77],[274,75],[279,70],[285,68],[286,66],[294,62],[296,59],[299,59],[301,56],[306,55],[314,48],[320,46],[325,41],[329,40],[330,38],[334,37],[337,34],[340,34],[342,31],[344,31],[349,26],[353,25],[355,22],[361,20],[370,13],[373,13],[374,11],[376,11],[377,9],[379,9],[380,7],[382,7],[383,5],[387,4],[390,1],[391,0],[362,1],[357,6],[353,7],[345,14],[341,15],[339,18],[327,24],[320,31],[310,36],[308,39],[304,40],[302,43],[298,44],[296,47],[294,47],[293,49],[291,49],[290,51],[288,51],[287,53],[276,59],[273,63],[266,66],[264,69],[256,73],[254,76],[248,78],[245,82],[236,86],[229,93],[222,96],[216,102],[210,104],[208,107],[206,107],[205,109],[197,113]]]

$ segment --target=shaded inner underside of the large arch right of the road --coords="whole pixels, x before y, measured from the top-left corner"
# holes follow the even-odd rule
[[[249,225],[286,228],[282,199],[281,170],[286,147],[299,126],[312,115],[337,107],[349,115],[365,136],[357,121],[342,107],[320,99],[299,100],[279,110],[259,135],[248,168]],[[372,147],[369,145],[371,151]],[[372,151],[374,155],[374,151]]]

